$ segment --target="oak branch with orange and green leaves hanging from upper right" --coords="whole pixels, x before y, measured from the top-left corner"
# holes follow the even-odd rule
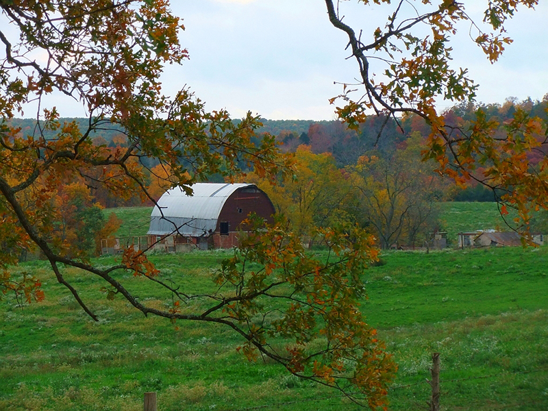
[[[548,144],[545,120],[523,107],[516,108],[512,119],[501,124],[478,108],[470,125],[460,127],[446,123],[435,108],[436,99],[465,104],[475,97],[477,84],[466,69],[451,66],[451,36],[459,25],[468,23],[473,42],[494,63],[512,42],[506,36],[508,18],[517,8],[534,8],[538,1],[486,1],[482,23],[471,20],[466,5],[457,1],[360,1],[365,5],[394,3],[394,8],[386,25],[378,27],[367,43],[366,36],[357,36],[357,30],[343,22],[343,3],[337,2],[336,8],[334,1],[325,0],[329,21],[348,36],[363,87],[363,93],[353,98],[345,85],[343,95],[332,99],[333,103],[337,99],[345,103],[336,109],[340,118],[358,127],[369,110],[396,121],[401,114],[415,114],[429,125],[425,158],[436,160],[440,173],[460,185],[475,180],[503,192],[501,214],[508,213],[507,207],[516,208],[524,223],[530,210],[547,208],[548,160],[543,156],[537,163],[529,158],[531,152]],[[419,28],[424,24],[429,26],[426,32]],[[375,79],[375,73],[384,76]],[[480,165],[484,170],[477,173]]]

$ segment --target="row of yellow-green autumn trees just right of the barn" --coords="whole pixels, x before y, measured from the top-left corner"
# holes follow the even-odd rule
[[[314,240],[317,230],[359,225],[377,245],[422,247],[443,231],[438,201],[451,196],[452,184],[422,162],[423,138],[414,133],[391,151],[367,151],[344,168],[331,153],[313,153],[310,145],[295,151],[295,169],[279,175],[277,184],[249,173],[247,182],[266,192],[292,232]]]

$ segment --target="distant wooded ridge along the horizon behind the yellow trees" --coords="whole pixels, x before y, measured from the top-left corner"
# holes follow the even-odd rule
[[[524,110],[530,116],[538,116],[548,120],[547,99],[543,101],[516,101],[507,99],[503,104],[475,104],[460,103],[445,112],[445,121],[448,125],[457,129],[469,129],[477,119],[477,112],[481,110],[486,121],[496,121],[503,127],[503,124],[512,119],[516,110]],[[60,123],[75,121],[80,129],[84,129],[88,119],[59,120]],[[262,121],[263,127],[258,129],[257,141],[264,133],[275,136],[284,152],[295,152],[301,145],[309,147],[314,154],[329,153],[332,155],[334,164],[338,169],[345,169],[358,163],[358,160],[366,153],[375,151],[379,157],[390,158],[397,150],[397,147],[405,143],[411,136],[420,135],[425,138],[429,134],[429,126],[419,116],[406,116],[401,119],[386,118],[384,116],[369,116],[360,124],[358,129],[349,129],[340,121],[305,121],[305,120],[267,120]],[[36,121],[33,119],[12,119],[12,127],[20,129],[21,134],[35,134],[38,132]],[[45,138],[53,138],[53,132],[43,129],[41,132]],[[501,129],[501,133],[503,130]],[[92,140],[95,145],[107,147],[124,147],[127,138],[123,129],[116,125],[105,124],[103,127],[92,132]],[[542,151],[531,153],[539,159],[545,155]],[[147,169],[151,170],[158,164],[149,162],[144,158]],[[419,160],[420,161],[420,160]],[[246,164],[240,164],[246,169]],[[157,170],[160,171],[160,170]],[[248,170],[249,171],[249,170]],[[153,174],[151,184],[153,184]],[[222,177],[211,175],[211,182],[222,181]],[[138,206],[141,199],[119,199],[103,192],[95,192],[97,201],[104,207],[116,206]],[[471,184],[464,190],[453,190],[448,200],[455,201],[494,201],[495,195],[481,184]],[[145,200],[146,201],[146,200]]]

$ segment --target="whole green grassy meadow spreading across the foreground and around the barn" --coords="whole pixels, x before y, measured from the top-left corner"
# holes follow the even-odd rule
[[[479,225],[467,205],[448,204],[448,220]],[[468,205],[478,204],[486,207]],[[491,224],[485,210],[478,217]],[[129,224],[149,215],[116,212]],[[163,275],[199,291],[229,255],[151,259]],[[369,299],[362,311],[399,364],[390,410],[424,409],[434,351],[442,410],[548,409],[548,247],[392,251],[382,259],[386,264],[364,272]],[[46,300],[24,308],[9,295],[0,301],[0,410],[142,410],[147,391],[158,393],[160,411],[358,409],[269,360],[248,362],[236,351],[241,340],[221,326],[145,318],[119,297],[106,299],[90,275],[64,269],[101,318],[95,323],[46,262],[26,262],[12,274],[24,271],[42,278]],[[149,280],[119,279],[152,305],[169,304]]]

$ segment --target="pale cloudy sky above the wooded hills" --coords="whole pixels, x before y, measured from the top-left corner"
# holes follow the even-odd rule
[[[464,3],[481,21],[478,5],[485,1]],[[224,108],[234,118],[251,111],[265,119],[332,120],[334,105],[328,100],[343,90],[334,83],[353,82],[358,75],[345,51],[347,37],[329,23],[323,0],[172,0],[171,8],[184,19],[181,43],[190,60],[166,66],[164,93],[190,87],[208,110]],[[548,93],[548,5],[522,9],[507,24],[514,43],[495,64],[473,45],[469,25],[453,39],[455,68],[469,69],[479,84],[477,101],[535,100]],[[363,29],[367,39],[377,26],[384,27],[393,6],[351,0],[341,3],[341,10],[345,22]],[[58,105],[62,116],[85,115],[59,96],[49,103]],[[438,101],[438,110],[451,105]]]

